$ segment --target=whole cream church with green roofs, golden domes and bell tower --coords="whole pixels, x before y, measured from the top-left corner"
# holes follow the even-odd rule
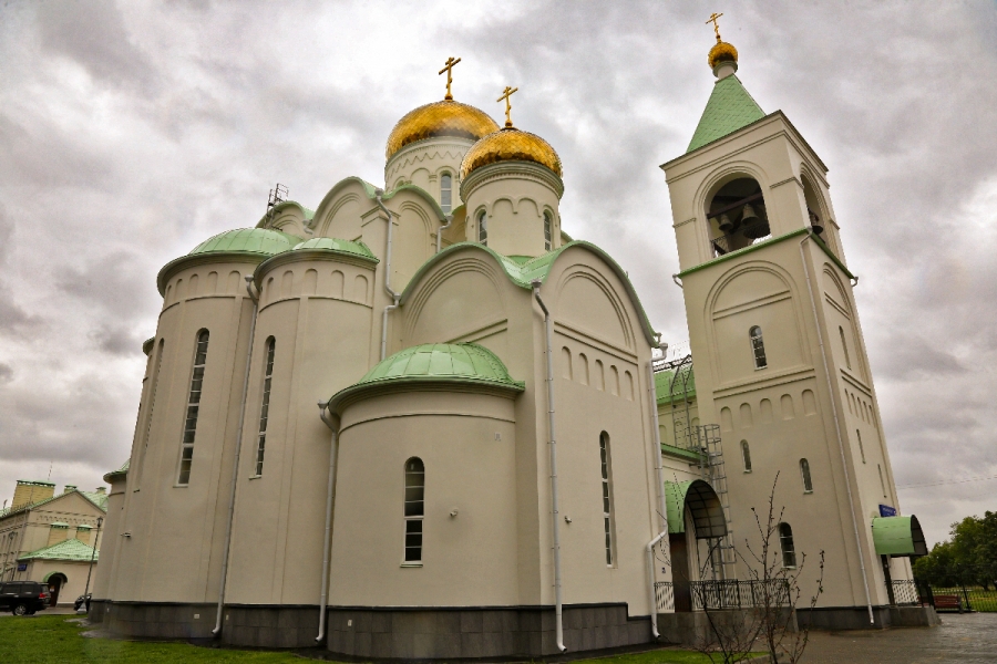
[[[662,166],[690,355],[563,230],[561,158],[513,124],[516,90],[504,126],[453,98],[459,59],[388,136],[382,186],[347,177],[314,210],[275,190],[164,266],[91,620],[409,660],[681,640],[703,584],[749,578],[778,471],[783,564],[826,553],[805,620],[895,623],[891,557],[924,541],[896,516],[826,168],[719,32],[709,60]]]

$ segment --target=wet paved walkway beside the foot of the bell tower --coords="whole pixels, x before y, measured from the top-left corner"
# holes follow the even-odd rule
[[[997,663],[997,613],[943,613],[937,627],[811,632],[803,664]]]

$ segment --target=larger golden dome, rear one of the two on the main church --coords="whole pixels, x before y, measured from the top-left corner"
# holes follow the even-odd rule
[[[388,149],[384,157],[390,159],[394,153],[417,141],[436,136],[456,136],[477,141],[496,131],[498,125],[484,111],[474,106],[444,100],[419,106],[409,111],[388,136]]]

